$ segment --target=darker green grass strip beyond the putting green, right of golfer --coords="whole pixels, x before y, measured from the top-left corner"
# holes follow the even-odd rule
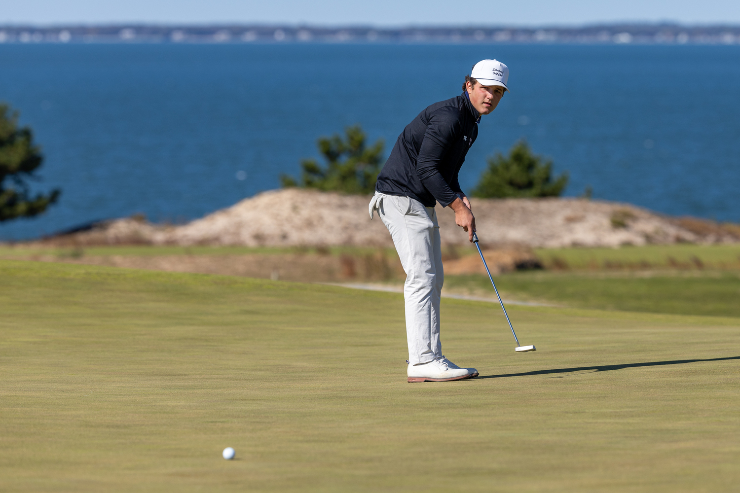
[[[497,276],[502,296],[571,307],[685,315],[740,316],[733,272],[519,272]],[[486,276],[445,276],[445,288],[494,295]]]

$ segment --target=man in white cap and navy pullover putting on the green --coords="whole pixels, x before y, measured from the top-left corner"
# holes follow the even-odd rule
[[[482,60],[465,76],[462,95],[434,103],[403,129],[380,171],[369,205],[391,233],[406,285],[408,381],[451,381],[478,376],[442,354],[440,294],[444,273],[440,226],[434,205],[455,211],[455,222],[473,241],[475,217],[457,174],[478,135],[481,115],[496,109],[508,90],[508,67]]]

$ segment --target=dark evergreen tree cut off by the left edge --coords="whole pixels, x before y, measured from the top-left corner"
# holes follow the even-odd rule
[[[36,216],[56,202],[58,189],[33,197],[29,190],[28,181],[36,178],[43,160],[31,129],[19,128],[18,112],[0,103],[0,222]]]

